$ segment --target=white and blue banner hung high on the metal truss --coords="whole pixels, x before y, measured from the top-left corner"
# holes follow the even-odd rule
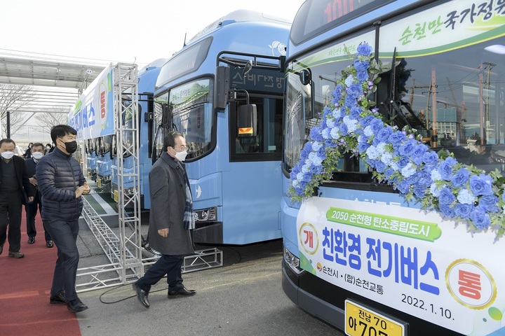
[[[69,113],[77,140],[114,134],[114,68],[107,66],[84,90]]]

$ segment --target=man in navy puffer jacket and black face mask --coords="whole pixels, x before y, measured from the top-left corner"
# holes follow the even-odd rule
[[[55,150],[36,165],[36,179],[42,195],[42,221],[58,248],[50,290],[50,303],[67,304],[69,311],[88,309],[77,297],[75,282],[79,251],[79,216],[83,208],[81,195],[90,192],[79,162],[72,158],[77,149],[77,132],[68,125],[57,125],[50,132]]]

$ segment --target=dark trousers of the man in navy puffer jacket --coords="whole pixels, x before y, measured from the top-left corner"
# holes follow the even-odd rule
[[[46,220],[44,224],[58,248],[58,260],[56,260],[50,295],[65,292],[65,300],[75,300],[77,298],[76,274],[79,265],[79,251],[76,245],[79,220],[71,222]]]

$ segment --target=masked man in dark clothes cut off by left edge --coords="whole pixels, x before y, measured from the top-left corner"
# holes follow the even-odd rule
[[[15,146],[12,139],[0,140],[0,254],[8,239],[8,256],[23,258],[25,255],[20,252],[22,204],[33,201],[35,190],[28,180],[25,160],[14,155]]]

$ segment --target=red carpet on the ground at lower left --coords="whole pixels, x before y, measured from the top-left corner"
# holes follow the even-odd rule
[[[25,258],[9,258],[8,241],[0,255],[0,335],[81,335],[76,314],[64,304],[49,303],[56,246],[46,247],[40,216],[35,244],[28,244],[24,207],[22,212],[20,251]]]

